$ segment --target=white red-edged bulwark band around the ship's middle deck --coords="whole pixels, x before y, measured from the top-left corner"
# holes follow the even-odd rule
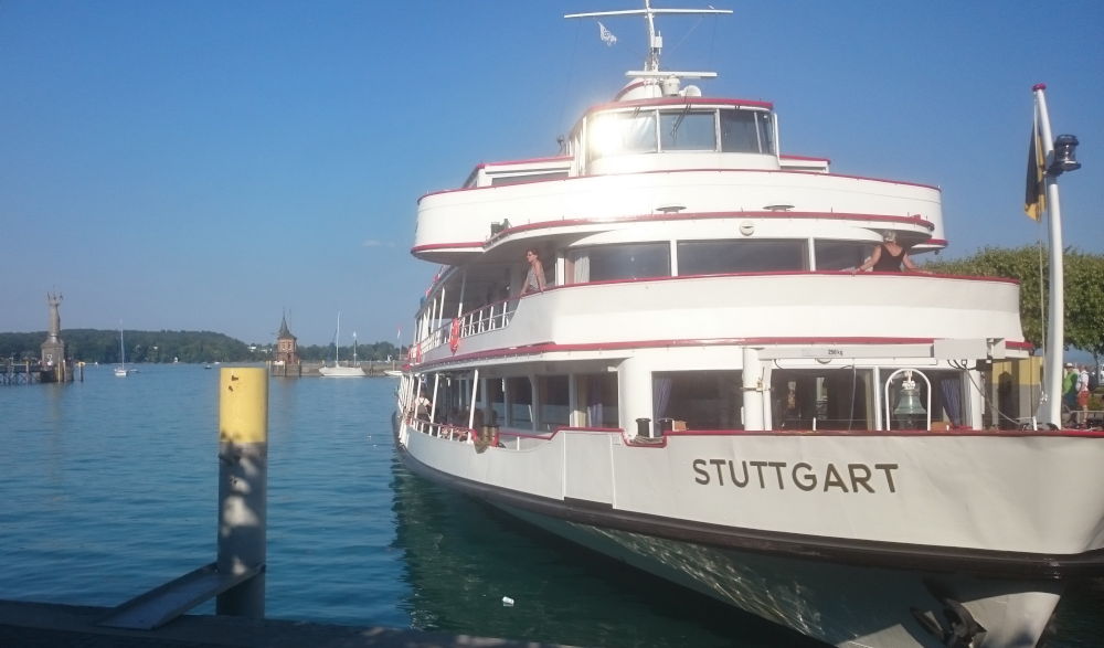
[[[435,320],[412,364],[447,360],[461,348],[486,354],[648,340],[994,338],[1020,349],[1017,294],[1010,279],[846,270],[570,284],[521,298],[535,299],[533,308],[509,299]],[[654,317],[657,308],[666,315]],[[487,333],[495,337],[479,340]]]

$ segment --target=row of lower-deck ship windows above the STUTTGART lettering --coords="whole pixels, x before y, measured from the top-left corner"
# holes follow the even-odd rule
[[[960,425],[964,421],[962,373],[925,370],[932,384],[932,419]],[[574,374],[575,416],[572,416],[569,375],[482,379],[475,427],[500,425],[512,429],[551,432],[558,427],[615,428],[618,422],[617,374]],[[873,429],[875,399],[870,369],[782,369],[771,380],[774,429]],[[920,402],[927,402],[927,384],[920,382]],[[652,421],[678,421],[684,429],[743,429],[743,376],[735,371],[665,371],[652,373]],[[482,393],[486,390],[486,393]],[[891,402],[900,395],[893,385]],[[437,393],[437,423],[467,426],[469,380],[443,383]],[[816,419],[816,423],[814,423]],[[893,428],[901,422],[892,422]]]

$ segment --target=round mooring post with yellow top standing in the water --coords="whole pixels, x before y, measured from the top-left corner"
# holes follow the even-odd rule
[[[264,618],[268,522],[268,373],[223,368],[219,376],[220,574],[257,575],[219,595],[215,614]]]

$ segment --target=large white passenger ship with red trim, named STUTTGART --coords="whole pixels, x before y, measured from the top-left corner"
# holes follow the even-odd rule
[[[1036,645],[1104,571],[1104,438],[983,425],[1017,283],[856,273],[944,247],[940,190],[783,155],[772,104],[660,70],[671,12],[728,13],[567,17],[643,17],[645,68],[563,155],[420,200],[403,460],[830,644]]]

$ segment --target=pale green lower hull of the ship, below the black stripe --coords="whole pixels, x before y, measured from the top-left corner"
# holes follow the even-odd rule
[[[957,631],[973,634],[976,646],[1031,647],[1045,630],[1062,587],[1052,581],[785,559],[500,508],[561,538],[836,646],[943,647]],[[960,604],[969,617],[949,602]],[[928,619],[928,627],[922,618]]]

